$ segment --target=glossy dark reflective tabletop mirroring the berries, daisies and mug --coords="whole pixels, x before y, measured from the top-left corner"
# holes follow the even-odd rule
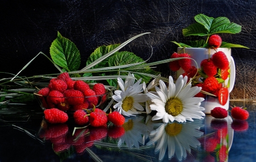
[[[122,127],[75,131],[73,123],[44,121],[38,103],[1,105],[0,161],[254,161],[255,105],[231,101],[234,105],[247,107],[247,121],[207,115],[164,124],[142,115],[127,118]]]

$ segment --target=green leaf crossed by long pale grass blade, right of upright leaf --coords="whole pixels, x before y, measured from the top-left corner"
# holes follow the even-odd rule
[[[86,66],[89,65],[90,63],[93,63],[93,61],[96,61],[98,58],[100,58],[103,55],[106,55],[106,53],[109,53],[113,49],[117,48],[120,44],[112,44],[112,45],[102,45],[101,47],[98,47],[94,50],[94,52],[88,57],[88,60],[86,61]],[[105,59],[95,65],[92,68],[103,68],[108,65],[108,59]]]

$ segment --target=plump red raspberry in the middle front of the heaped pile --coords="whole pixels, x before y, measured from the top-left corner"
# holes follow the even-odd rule
[[[65,97],[67,97],[67,102],[69,105],[78,105],[84,103],[84,94],[79,90],[69,89],[64,92]]]

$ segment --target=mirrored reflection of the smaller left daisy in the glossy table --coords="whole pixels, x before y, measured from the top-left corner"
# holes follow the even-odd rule
[[[146,124],[142,123],[143,117],[133,117],[125,119],[125,123],[122,125],[125,128],[125,134],[119,139],[118,147],[121,147],[123,143],[127,147],[133,146],[139,148],[139,143],[144,145],[144,134],[147,130],[144,129]]]

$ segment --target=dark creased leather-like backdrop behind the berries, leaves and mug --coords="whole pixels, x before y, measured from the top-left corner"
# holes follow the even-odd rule
[[[16,74],[40,51],[49,56],[49,47],[57,31],[79,48],[82,64],[100,45],[122,43],[151,32],[128,44],[125,50],[149,62],[170,58],[176,51],[171,41],[184,42],[182,29],[195,22],[193,17],[205,14],[214,18],[226,16],[240,24],[236,35],[221,35],[229,43],[250,49],[233,48],[236,63],[236,85],[232,99],[255,99],[255,14],[254,0],[226,1],[18,1],[3,0],[0,5],[0,72]],[[192,38],[195,40],[195,38]],[[170,75],[168,64],[157,68]],[[21,75],[56,73],[46,57],[39,56]],[[7,77],[5,74],[0,74]],[[173,75],[173,74],[172,74]],[[9,76],[10,77],[10,76]]]

